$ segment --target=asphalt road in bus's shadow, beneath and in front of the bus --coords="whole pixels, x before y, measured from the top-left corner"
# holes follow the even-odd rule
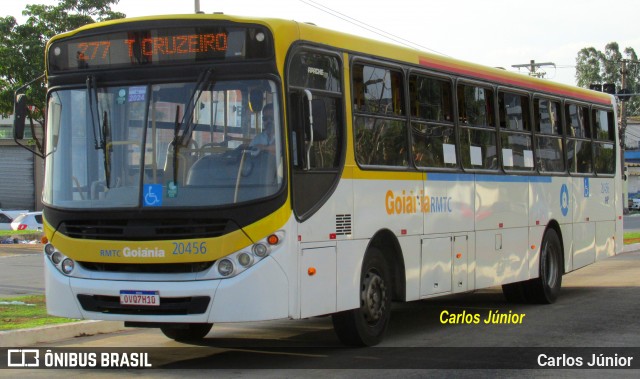
[[[535,364],[540,354],[583,355],[585,363],[591,354],[619,354],[640,361],[638,273],[640,251],[565,275],[560,297],[552,305],[510,304],[499,288],[395,305],[385,340],[365,349],[341,347],[327,317],[217,324],[196,347],[169,340],[155,329],[78,337],[32,348],[101,352],[126,347],[148,354],[155,369],[31,370],[28,376],[635,378],[638,370],[516,369]],[[512,324],[451,324],[442,321],[443,312],[479,314],[481,319],[489,312],[525,317]],[[499,369],[504,365],[515,368]],[[26,373],[2,371],[0,377]]]

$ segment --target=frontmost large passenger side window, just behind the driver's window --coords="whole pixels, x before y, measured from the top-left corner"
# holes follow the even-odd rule
[[[352,69],[356,160],[408,166],[402,72],[356,63]]]

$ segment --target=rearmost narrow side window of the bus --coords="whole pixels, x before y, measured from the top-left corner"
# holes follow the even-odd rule
[[[598,174],[614,174],[618,154],[615,153],[615,122],[613,112],[601,109],[592,110],[595,132],[595,165]]]

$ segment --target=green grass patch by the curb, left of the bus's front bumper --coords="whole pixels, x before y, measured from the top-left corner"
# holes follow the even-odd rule
[[[64,324],[77,320],[49,316],[44,295],[0,298],[0,331]]]

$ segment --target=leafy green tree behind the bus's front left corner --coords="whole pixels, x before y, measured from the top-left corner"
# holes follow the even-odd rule
[[[13,16],[0,17],[0,114],[13,113],[14,92],[44,73],[46,42],[56,34],[96,21],[126,17],[111,10],[120,0],[60,0],[58,5],[27,5],[22,25]],[[44,82],[27,91],[33,105],[30,121],[44,125]]]

